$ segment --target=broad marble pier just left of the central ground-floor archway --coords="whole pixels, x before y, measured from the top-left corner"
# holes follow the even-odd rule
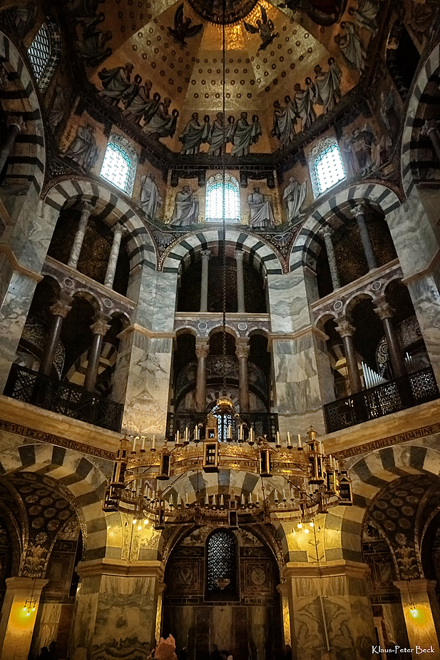
[[[127,658],[148,657],[155,639],[163,565],[93,559],[76,567],[81,582],[68,657],[84,660],[93,647],[101,656],[123,649]]]

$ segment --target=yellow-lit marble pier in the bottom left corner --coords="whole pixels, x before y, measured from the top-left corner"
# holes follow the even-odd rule
[[[31,648],[41,590],[48,580],[31,577],[6,578],[6,594],[1,608],[0,649],[1,660],[26,659]],[[35,600],[35,611],[27,616],[26,600]]]

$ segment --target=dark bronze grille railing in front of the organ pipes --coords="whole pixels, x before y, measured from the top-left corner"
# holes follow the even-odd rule
[[[327,433],[375,420],[440,397],[432,367],[324,405]]]

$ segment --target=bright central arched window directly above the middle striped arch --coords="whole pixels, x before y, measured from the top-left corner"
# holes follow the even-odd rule
[[[227,173],[224,193],[222,174],[212,176],[206,186],[206,222],[221,223],[223,215],[227,223],[240,222],[240,187],[237,179]]]

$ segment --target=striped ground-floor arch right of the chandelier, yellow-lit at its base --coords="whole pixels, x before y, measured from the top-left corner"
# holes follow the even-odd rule
[[[337,457],[337,455],[336,455]],[[352,507],[336,507],[325,519],[326,559],[362,562],[362,524],[374,497],[399,477],[439,476],[440,452],[423,445],[394,445],[371,452],[349,468]]]

